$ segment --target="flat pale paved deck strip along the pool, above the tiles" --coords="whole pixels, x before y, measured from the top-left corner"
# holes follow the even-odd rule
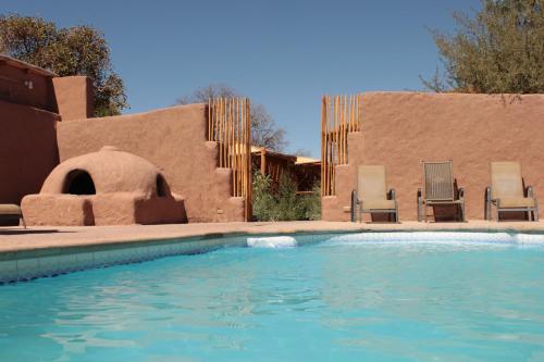
[[[220,238],[230,235],[343,232],[520,232],[544,233],[544,222],[359,224],[349,222],[207,223],[123,226],[0,227],[0,254],[30,250],[77,248],[137,241]]]

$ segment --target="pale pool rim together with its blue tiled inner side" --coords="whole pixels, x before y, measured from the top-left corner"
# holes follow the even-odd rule
[[[25,234],[28,232],[37,234]],[[171,255],[202,253],[230,246],[245,247],[249,237],[293,236],[301,246],[323,241],[330,236],[354,233],[446,232],[544,235],[544,224],[287,222],[60,227],[55,228],[54,233],[50,232],[50,228],[44,227],[35,227],[27,232],[21,228],[16,230],[0,228],[0,285]]]

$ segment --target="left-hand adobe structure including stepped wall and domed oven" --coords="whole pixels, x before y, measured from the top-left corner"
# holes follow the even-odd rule
[[[99,224],[245,221],[245,199],[232,191],[233,170],[219,167],[219,145],[208,140],[208,111],[207,104],[190,104],[95,118],[88,77],[59,77],[0,55],[0,203],[21,204],[25,196],[35,195],[23,205],[29,224],[89,225],[90,215]],[[116,163],[119,152],[128,154],[123,157],[132,160],[134,172]],[[70,161],[78,157],[77,162]],[[99,170],[97,160],[111,164]],[[65,184],[76,170],[91,178],[96,195],[79,195],[81,210],[74,219],[40,220],[33,214],[33,209],[52,203],[62,210],[67,194],[73,195]],[[112,179],[115,175],[122,179]],[[158,175],[169,189],[160,200],[156,198],[161,192]],[[146,182],[132,185],[131,178]],[[119,208],[99,204],[113,194],[118,200],[128,197]],[[159,210],[161,202],[161,208],[171,202],[166,209],[176,214],[149,216],[146,208],[154,204]],[[125,211],[113,216],[114,210]],[[112,213],[111,217],[104,213]]]

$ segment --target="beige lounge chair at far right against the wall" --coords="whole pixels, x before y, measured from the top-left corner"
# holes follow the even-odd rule
[[[524,187],[519,162],[492,162],[491,187],[485,189],[485,220],[491,221],[492,205],[495,220],[499,212],[527,212],[529,221],[539,221],[539,201],[531,186]]]

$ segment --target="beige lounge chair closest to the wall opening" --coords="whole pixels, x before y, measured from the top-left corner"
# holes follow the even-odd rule
[[[351,192],[351,221],[362,222],[362,213],[388,213],[398,223],[395,190],[387,192],[385,167],[360,165],[357,170],[357,190]]]

